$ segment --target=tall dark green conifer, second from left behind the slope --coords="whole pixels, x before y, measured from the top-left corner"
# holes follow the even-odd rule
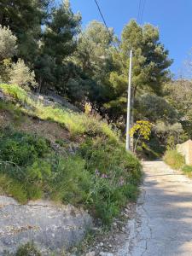
[[[78,68],[67,61],[76,49],[81,16],[73,14],[70,3],[63,1],[51,9],[45,22],[41,54],[35,61],[35,73],[40,84],[39,90],[55,89],[61,95],[69,96],[69,81],[79,76]],[[77,93],[77,90],[75,91]],[[72,97],[73,98],[73,97]]]

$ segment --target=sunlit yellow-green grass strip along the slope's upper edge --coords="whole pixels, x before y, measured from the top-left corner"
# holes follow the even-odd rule
[[[20,102],[25,113],[37,116],[39,119],[52,120],[65,127],[71,134],[71,137],[87,135],[95,137],[104,135],[111,139],[118,140],[119,137],[115,134],[107,123],[99,121],[93,117],[87,116],[84,113],[74,113],[63,108],[44,107],[43,104],[33,102],[30,96],[27,96],[25,90],[15,84],[0,84],[0,89],[4,93],[13,96],[17,102]],[[25,108],[29,106],[30,109]]]

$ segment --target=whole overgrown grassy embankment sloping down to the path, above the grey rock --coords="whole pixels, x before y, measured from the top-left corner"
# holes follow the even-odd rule
[[[38,198],[71,203],[88,209],[103,224],[111,224],[127,201],[137,199],[140,163],[125,152],[105,122],[84,113],[44,107],[17,85],[0,84],[0,90],[14,99],[0,102],[0,113],[12,119],[0,131],[1,194],[12,195],[20,203]],[[23,132],[22,119],[29,117],[61,125],[69,140],[78,143],[75,154],[68,152],[63,137],[55,140],[63,149],[60,153],[38,132]]]

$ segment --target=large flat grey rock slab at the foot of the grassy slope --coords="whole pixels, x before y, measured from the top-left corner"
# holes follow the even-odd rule
[[[13,198],[0,196],[0,210],[1,256],[3,251],[15,253],[27,241],[34,241],[43,255],[73,247],[93,225],[88,213],[50,201],[20,205]]]

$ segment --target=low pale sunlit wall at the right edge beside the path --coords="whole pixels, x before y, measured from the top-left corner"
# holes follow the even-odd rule
[[[186,165],[192,165],[192,141],[189,140],[183,144],[177,144],[177,152],[183,154]]]

